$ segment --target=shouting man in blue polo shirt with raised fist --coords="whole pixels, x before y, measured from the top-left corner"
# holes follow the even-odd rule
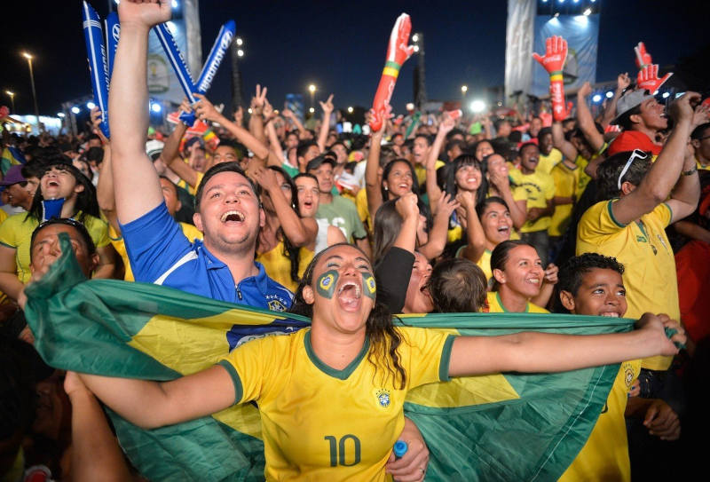
[[[108,99],[116,211],[136,281],[284,311],[290,291],[254,261],[264,211],[236,162],[208,170],[197,190],[193,220],[204,241],[187,241],[165,207],[145,150],[147,30],[140,22],[122,26]],[[202,116],[199,103],[195,110]]]

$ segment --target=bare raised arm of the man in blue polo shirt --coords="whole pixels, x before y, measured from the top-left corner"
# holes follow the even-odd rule
[[[153,162],[146,154],[148,130],[148,32],[170,20],[170,2],[118,5],[121,40],[116,50],[108,94],[116,211],[122,224],[154,209],[162,190]]]

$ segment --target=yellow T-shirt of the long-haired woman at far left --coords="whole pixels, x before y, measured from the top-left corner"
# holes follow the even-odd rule
[[[81,213],[76,213],[74,218],[81,218]],[[29,245],[32,241],[32,232],[38,225],[39,222],[34,217],[29,217],[25,212],[8,217],[0,225],[0,244],[16,249],[17,277],[23,283],[27,283],[32,277],[32,273],[29,271]],[[104,248],[110,244],[106,221],[87,214],[83,218],[83,225],[97,248]]]

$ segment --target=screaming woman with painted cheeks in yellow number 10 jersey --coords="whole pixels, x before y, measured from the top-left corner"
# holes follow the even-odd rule
[[[372,265],[338,244],[304,273],[293,310],[311,328],[243,344],[216,366],[158,383],[80,375],[131,423],[154,428],[255,401],[262,420],[267,480],[390,480],[386,463],[405,423],[407,391],[452,376],[553,372],[675,354],[664,323],[644,316],[621,334],[517,333],[453,336],[395,327],[375,304]],[[682,333],[682,332],[681,332]],[[424,477],[423,467],[418,478]]]

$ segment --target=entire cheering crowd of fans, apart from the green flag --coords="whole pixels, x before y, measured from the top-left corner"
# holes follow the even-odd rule
[[[99,400],[148,428],[256,401],[270,480],[425,478],[427,440],[402,412],[406,391],[462,375],[620,363],[564,480],[653,479],[666,473],[659,458],[681,454],[707,426],[703,399],[691,395],[706,378],[710,334],[710,113],[691,91],[659,103],[652,94],[667,76],[643,44],[636,82],[620,74],[596,117],[588,84],[576,102],[564,98],[567,46],[551,37],[535,56],[550,74],[550,103],[525,115],[420,118],[385,103],[368,115],[371,134],[338,133],[333,95],[308,129],[257,85],[248,120],[200,94],[183,103],[209,137],[182,122],[148,126],[147,32],[170,20],[170,5],[122,2],[119,14],[111,138],[98,109],[76,137],[3,131],[3,480],[30,468],[47,479],[141,479]],[[291,311],[312,327],[249,342],[169,383],[54,370],[33,351],[22,307],[25,286],[60,256],[59,233],[89,278]],[[454,337],[392,325],[393,314],[427,312],[638,321],[604,336]],[[347,415],[333,407],[334,393],[369,393],[376,376],[396,410],[380,418],[357,402]],[[323,433],[364,427],[356,463],[334,468],[319,452],[323,433],[303,425],[316,417],[330,424]],[[409,450],[397,459],[398,439]]]

